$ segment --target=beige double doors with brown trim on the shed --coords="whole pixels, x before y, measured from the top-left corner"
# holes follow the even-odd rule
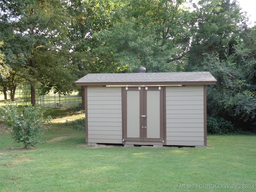
[[[124,140],[162,142],[163,90],[158,87],[124,88]]]

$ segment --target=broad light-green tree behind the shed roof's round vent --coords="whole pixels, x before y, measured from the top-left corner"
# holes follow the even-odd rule
[[[185,0],[123,1],[113,10],[107,29],[94,36],[100,45],[92,50],[102,72],[181,70],[190,42],[189,12]],[[156,14],[157,13],[157,14]]]

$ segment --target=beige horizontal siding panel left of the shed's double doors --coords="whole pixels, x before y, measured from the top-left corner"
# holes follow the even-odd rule
[[[121,88],[88,86],[87,99],[87,142],[122,144]]]

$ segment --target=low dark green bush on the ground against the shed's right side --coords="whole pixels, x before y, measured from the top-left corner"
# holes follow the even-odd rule
[[[208,134],[228,134],[234,132],[234,126],[230,121],[227,121],[224,118],[207,117]]]

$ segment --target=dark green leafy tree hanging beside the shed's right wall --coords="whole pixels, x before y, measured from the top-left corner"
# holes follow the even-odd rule
[[[208,114],[231,121],[236,129],[252,131],[256,122],[256,60],[240,59],[246,57],[246,51],[236,49],[236,54],[226,61],[221,61],[218,55],[207,55],[203,62],[204,68],[217,79],[216,86],[208,87]],[[238,57],[242,50],[244,54]]]

